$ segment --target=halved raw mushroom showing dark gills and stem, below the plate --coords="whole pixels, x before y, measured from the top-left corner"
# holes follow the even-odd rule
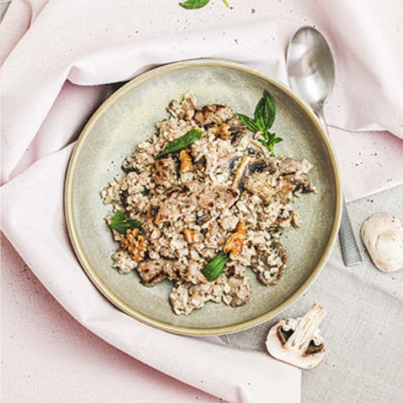
[[[321,306],[313,304],[305,316],[280,320],[267,334],[267,351],[274,358],[296,367],[315,367],[326,352],[319,330],[325,315]]]

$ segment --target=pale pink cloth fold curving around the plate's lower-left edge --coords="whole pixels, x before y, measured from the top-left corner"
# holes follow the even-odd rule
[[[264,402],[267,388],[273,401],[298,402],[297,368],[211,338],[154,329],[96,290],[74,255],[64,222],[63,178],[72,148],[42,158],[2,188],[2,230],[56,300],[106,342],[191,386],[231,402]]]

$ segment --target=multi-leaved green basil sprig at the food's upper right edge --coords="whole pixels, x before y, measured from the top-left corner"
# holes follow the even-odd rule
[[[254,118],[238,113],[239,119],[251,131],[261,131],[263,139],[259,142],[270,150],[270,154],[274,157],[274,146],[283,141],[282,138],[276,137],[276,133],[268,131],[273,126],[276,117],[276,107],[274,99],[266,90],[263,92],[263,97],[260,98],[256,105]]]

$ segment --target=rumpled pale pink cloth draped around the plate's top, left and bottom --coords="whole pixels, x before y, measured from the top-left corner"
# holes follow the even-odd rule
[[[288,40],[306,24],[328,38],[337,63],[326,117],[347,197],[403,182],[402,4],[251,4],[187,11],[151,0],[14,0],[1,26],[2,229],[66,310],[120,350],[229,401],[293,402],[299,370],[217,338],[155,330],[107,303],[81,270],[63,217],[72,141],[105,97],[102,84],[194,57],[245,62],[286,81]]]

